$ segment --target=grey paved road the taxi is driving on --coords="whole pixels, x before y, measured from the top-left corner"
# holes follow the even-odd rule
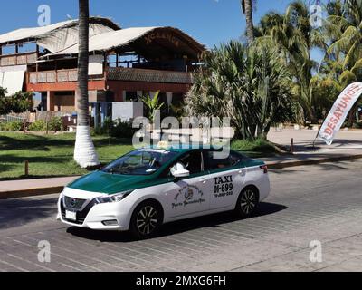
[[[258,215],[194,218],[160,237],[91,232],[56,222],[56,196],[0,201],[0,271],[361,271],[362,160],[271,172]],[[38,261],[38,242],[52,247]],[[310,262],[310,241],[322,263]]]

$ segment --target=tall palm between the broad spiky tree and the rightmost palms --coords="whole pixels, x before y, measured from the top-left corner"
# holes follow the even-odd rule
[[[265,15],[257,31],[270,38],[281,50],[284,63],[293,76],[294,92],[299,96],[305,119],[315,121],[311,84],[313,71],[318,71],[319,63],[311,58],[310,52],[315,47],[327,49],[327,44],[321,29],[311,26],[310,16],[305,2],[294,1],[283,15]]]

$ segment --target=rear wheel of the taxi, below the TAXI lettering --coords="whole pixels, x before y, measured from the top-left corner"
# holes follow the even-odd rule
[[[253,187],[243,189],[240,194],[235,211],[241,217],[250,217],[259,205],[259,192]]]

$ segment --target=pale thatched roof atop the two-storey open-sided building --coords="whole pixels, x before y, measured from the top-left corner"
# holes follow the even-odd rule
[[[78,20],[44,27],[22,28],[0,35],[0,46],[36,42],[50,53],[48,58],[78,54]],[[90,53],[137,52],[144,57],[186,55],[197,59],[205,46],[174,27],[121,29],[108,18],[90,17]]]

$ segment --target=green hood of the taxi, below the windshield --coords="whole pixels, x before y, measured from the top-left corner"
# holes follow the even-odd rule
[[[130,176],[96,171],[83,176],[80,179],[76,179],[68,185],[68,188],[115,194],[127,190],[152,186],[151,183],[156,183],[154,181],[155,178],[151,176]]]

